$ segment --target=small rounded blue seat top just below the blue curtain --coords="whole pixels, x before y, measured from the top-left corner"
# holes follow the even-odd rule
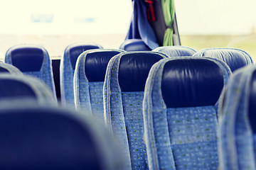
[[[119,47],[120,50],[125,50],[127,52],[132,51],[151,51],[151,49],[145,44],[141,39],[127,39],[122,42]]]

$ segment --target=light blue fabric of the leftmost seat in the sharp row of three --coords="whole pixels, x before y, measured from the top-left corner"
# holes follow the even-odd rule
[[[82,52],[78,57],[77,64],[74,73],[74,93],[75,93],[75,107],[80,110],[84,110],[87,113],[95,115],[96,118],[104,120],[104,108],[103,108],[103,81],[90,82],[87,79],[85,73],[85,60],[87,54],[92,52],[103,52],[117,51],[123,52],[122,50],[111,50],[111,49],[97,49],[87,50]]]

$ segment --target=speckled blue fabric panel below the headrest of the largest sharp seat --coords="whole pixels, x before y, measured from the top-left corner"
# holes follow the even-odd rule
[[[168,108],[167,123],[176,169],[218,168],[214,106]]]

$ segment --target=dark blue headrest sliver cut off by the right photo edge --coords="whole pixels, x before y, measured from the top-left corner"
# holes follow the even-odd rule
[[[250,84],[250,99],[249,99],[249,120],[252,127],[252,132],[256,133],[256,71],[252,74]]]

